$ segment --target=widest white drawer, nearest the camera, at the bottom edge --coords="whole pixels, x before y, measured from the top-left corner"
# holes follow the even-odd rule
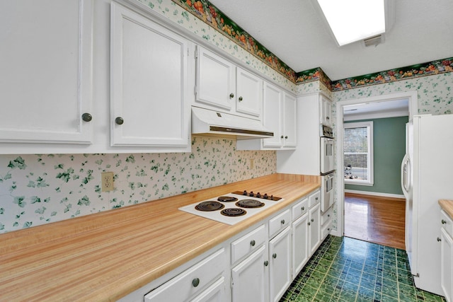
[[[222,248],[149,292],[144,301],[180,301],[181,297],[193,296],[219,277],[226,267],[226,252]]]

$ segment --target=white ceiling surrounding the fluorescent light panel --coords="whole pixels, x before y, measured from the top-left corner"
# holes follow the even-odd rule
[[[321,67],[332,81],[453,57],[452,0],[389,0],[394,25],[376,47],[338,47],[312,1],[210,0],[294,71]]]

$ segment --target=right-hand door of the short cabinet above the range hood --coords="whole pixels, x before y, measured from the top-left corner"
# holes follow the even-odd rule
[[[261,117],[263,80],[236,67],[236,111]]]

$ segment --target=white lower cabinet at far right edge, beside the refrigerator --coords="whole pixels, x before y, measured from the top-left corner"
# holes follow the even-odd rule
[[[453,298],[453,238],[452,219],[445,211],[441,211],[442,228],[440,229],[440,286],[444,291],[445,300]]]

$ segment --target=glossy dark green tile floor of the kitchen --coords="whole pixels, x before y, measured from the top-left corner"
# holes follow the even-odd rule
[[[280,302],[445,301],[415,288],[406,251],[328,236]]]

